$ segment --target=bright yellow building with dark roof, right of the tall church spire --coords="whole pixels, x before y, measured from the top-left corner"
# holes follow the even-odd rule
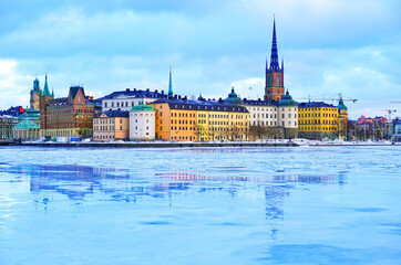
[[[298,104],[298,129],[300,138],[338,138],[338,107],[323,102]]]

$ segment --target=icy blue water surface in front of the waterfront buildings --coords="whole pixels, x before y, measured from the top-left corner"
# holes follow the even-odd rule
[[[401,264],[401,147],[0,148],[0,264]]]

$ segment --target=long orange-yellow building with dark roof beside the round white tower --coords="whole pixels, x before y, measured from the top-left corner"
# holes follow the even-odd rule
[[[156,109],[156,138],[171,141],[246,140],[249,113],[223,100],[163,98]]]

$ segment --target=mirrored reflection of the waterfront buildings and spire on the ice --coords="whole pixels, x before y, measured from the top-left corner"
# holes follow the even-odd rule
[[[240,169],[240,171],[238,171]],[[85,197],[99,194],[95,200],[136,203],[138,198],[169,199],[178,193],[215,192],[237,197],[238,192],[263,192],[266,222],[271,239],[277,237],[279,224],[284,220],[284,201],[294,189],[305,189],[305,184],[343,186],[347,172],[337,174],[291,174],[285,170],[274,174],[255,173],[240,167],[215,167],[208,171],[154,169],[147,171],[96,168],[79,165],[6,165],[0,173],[7,172],[17,180],[27,179],[32,193],[53,191],[68,195],[70,200],[84,203]],[[14,180],[12,180],[14,181]],[[47,208],[52,199],[37,199]]]

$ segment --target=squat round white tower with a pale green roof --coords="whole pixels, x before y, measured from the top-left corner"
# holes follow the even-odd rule
[[[130,139],[154,140],[156,137],[156,110],[146,105],[133,106],[130,110]]]

